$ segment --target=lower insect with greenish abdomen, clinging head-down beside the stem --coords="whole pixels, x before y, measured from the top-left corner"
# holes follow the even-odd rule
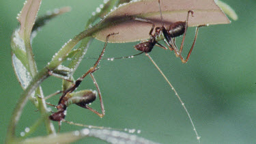
[[[100,63],[100,59],[102,59],[102,57],[104,55],[104,51],[106,49],[106,44],[108,43],[109,36],[115,35],[115,34],[118,34],[118,33],[111,33],[111,34],[106,36],[106,42],[104,44],[104,48],[103,48],[100,56],[98,57],[98,60],[96,61],[96,63],[94,64],[93,67],[89,68],[89,70],[87,70],[87,72],[85,72],[85,74],[83,74],[83,76],[78,78],[65,91],[57,91],[56,93],[53,93],[52,95],[45,98],[45,99],[48,99],[51,96],[55,96],[58,93],[62,93],[61,98],[59,99],[59,102],[58,102],[57,106],[55,106],[53,104],[49,104],[49,105],[55,106],[57,108],[57,112],[50,115],[49,119],[51,119],[52,121],[59,121],[59,129],[60,129],[61,121],[65,120],[66,111],[67,111],[67,108],[70,104],[76,104],[76,105],[81,106],[85,109],[89,109],[89,111],[92,111],[92,112],[96,113],[99,117],[103,117],[105,115],[104,104],[103,104],[103,101],[102,101],[102,95],[100,93],[100,88],[98,87],[98,84],[96,82],[96,79],[94,78],[93,73],[96,70],[98,70],[97,66]],[[49,71],[49,74],[54,76],[54,74],[51,74],[50,71]],[[92,80],[94,81],[94,84],[95,84],[96,89],[98,91],[98,96],[100,98],[101,113],[99,113],[98,111],[96,111],[96,110],[92,109],[90,106],[88,106],[88,104],[90,104],[91,102],[94,102],[94,100],[96,100],[96,93],[97,93],[96,91],[83,90],[83,91],[78,91],[78,92],[73,93],[73,91],[77,87],[79,87],[79,85],[81,84],[81,82],[83,81],[85,76],[87,76],[88,74],[91,76]],[[68,79],[65,79],[65,80],[70,81]]]

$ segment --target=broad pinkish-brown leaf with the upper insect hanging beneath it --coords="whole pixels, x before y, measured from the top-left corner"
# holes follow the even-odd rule
[[[194,16],[190,16],[188,20],[189,27],[230,23],[214,0],[161,0],[160,7],[163,22],[166,26],[177,21],[186,20],[188,10],[194,11]],[[120,5],[119,8],[113,10],[102,20],[102,23],[111,22],[112,25],[94,34],[94,37],[104,41],[109,33],[118,32],[118,35],[109,38],[109,42],[134,42],[149,38],[152,25],[133,20],[131,17],[152,20],[156,27],[160,27],[158,1],[132,1]]]

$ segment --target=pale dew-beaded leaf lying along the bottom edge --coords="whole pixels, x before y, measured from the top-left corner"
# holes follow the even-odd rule
[[[143,139],[134,134],[119,132],[117,130],[84,128],[73,132],[59,133],[56,135],[38,136],[20,141],[20,143],[72,143],[85,137],[94,137],[108,143],[148,143],[154,142]]]

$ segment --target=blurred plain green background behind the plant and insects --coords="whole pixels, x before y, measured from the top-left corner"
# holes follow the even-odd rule
[[[256,3],[255,0],[225,1],[236,10],[239,19],[230,25],[212,25],[199,30],[190,61],[182,64],[173,52],[154,48],[150,55],[167,75],[186,104],[201,143],[255,143],[256,134]],[[83,31],[91,12],[102,1],[44,0],[39,15],[47,10],[70,5],[72,11],[46,25],[33,40],[33,53],[42,69],[61,46]],[[18,25],[16,16],[23,1],[0,1],[1,103],[0,124],[3,143],[14,106],[23,89],[12,69],[10,36]],[[188,51],[195,28],[190,28],[185,41]],[[104,57],[135,54],[135,43],[109,44]],[[94,40],[85,57],[98,57],[104,43]],[[75,78],[81,76],[94,59],[84,59]],[[101,61],[95,72],[102,92],[106,115],[100,119],[94,113],[74,105],[66,120],[93,126],[135,128],[142,136],[158,143],[197,143],[190,121],[166,81],[150,60],[141,55],[134,59]],[[47,96],[61,89],[61,80],[48,78],[42,84]],[[96,89],[86,78],[79,89]],[[48,100],[57,104],[58,96]],[[97,102],[92,107],[100,110]],[[38,119],[31,102],[25,106],[17,134]],[[55,109],[53,108],[55,111]],[[55,122],[57,128],[57,123]],[[61,132],[81,129],[63,124]],[[44,135],[41,126],[32,136]],[[89,138],[76,143],[103,143]]]

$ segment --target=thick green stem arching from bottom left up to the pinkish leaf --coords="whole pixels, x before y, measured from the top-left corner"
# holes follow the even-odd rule
[[[27,89],[25,89],[25,91],[23,91],[23,93],[21,94],[20,99],[18,100],[18,103],[16,104],[16,107],[14,109],[14,112],[12,113],[12,118],[8,126],[7,138],[5,140],[5,143],[11,143],[16,139],[16,136],[15,136],[16,124],[20,119],[20,115],[23,111],[23,108],[25,104],[27,104],[27,100],[29,96],[31,96],[31,93],[33,93],[33,91],[35,91],[35,89],[42,83],[42,81],[44,81],[44,79],[49,76],[48,70],[55,70],[57,66],[59,66],[66,59],[68,53],[70,53],[72,48],[74,48],[74,46],[76,46],[78,42],[83,40],[83,38],[94,35],[94,33],[100,31],[101,29],[110,27],[111,25],[113,25],[113,23],[125,22],[127,19],[128,18],[119,18],[119,19],[113,18],[113,20],[108,20],[108,21],[102,20],[97,25],[94,25],[94,27],[91,27],[85,31],[82,31],[81,33],[79,33],[79,35],[76,35],[74,38],[72,38],[62,46],[62,48],[57,52],[57,54],[53,56],[48,66],[43,68],[38,74],[36,74],[33,77],[33,80],[31,81]],[[50,123],[46,122],[46,124],[50,124]],[[51,128],[51,126],[49,126],[48,128]]]

